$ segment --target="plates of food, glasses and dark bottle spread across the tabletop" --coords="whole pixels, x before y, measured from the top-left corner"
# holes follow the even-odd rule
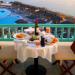
[[[41,29],[39,29],[40,31]],[[50,29],[45,31],[38,32],[37,35],[34,34],[34,28],[28,28],[25,30],[25,33],[16,33],[14,34],[14,40],[16,42],[23,42],[25,46],[30,47],[45,47],[55,43],[57,38],[55,38],[52,34],[49,34]]]

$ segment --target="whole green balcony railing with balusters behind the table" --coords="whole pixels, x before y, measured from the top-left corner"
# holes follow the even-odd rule
[[[59,41],[75,40],[75,24],[38,24],[39,27],[50,27],[52,33],[59,38]],[[0,41],[13,41],[13,34],[24,32],[27,27],[34,27],[35,24],[3,24],[0,25]]]

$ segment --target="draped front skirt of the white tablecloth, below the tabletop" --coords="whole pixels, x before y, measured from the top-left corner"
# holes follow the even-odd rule
[[[25,62],[29,57],[42,57],[52,62],[52,55],[57,53],[57,43],[47,45],[45,47],[31,47],[25,46],[22,41],[15,42],[15,50],[17,51],[17,58],[21,62]]]

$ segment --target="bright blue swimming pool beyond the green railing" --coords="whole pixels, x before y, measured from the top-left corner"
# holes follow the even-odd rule
[[[18,19],[23,19],[22,16],[11,12],[8,9],[0,8],[0,24],[16,24]]]

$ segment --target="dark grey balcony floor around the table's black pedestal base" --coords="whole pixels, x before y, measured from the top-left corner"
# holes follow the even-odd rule
[[[33,59],[30,58],[28,59],[26,62],[24,63],[20,63],[20,64],[15,64],[13,65],[10,70],[12,72],[14,72],[16,75],[26,75],[25,73],[25,69],[27,68],[27,66],[33,64]],[[45,59],[39,58],[39,64],[43,65],[46,70],[47,70],[47,74],[46,75],[59,75],[60,74],[60,69],[57,65],[52,65],[50,62],[48,62]],[[2,71],[2,68],[0,67],[0,72]],[[10,75],[8,72],[5,72],[4,75]]]

